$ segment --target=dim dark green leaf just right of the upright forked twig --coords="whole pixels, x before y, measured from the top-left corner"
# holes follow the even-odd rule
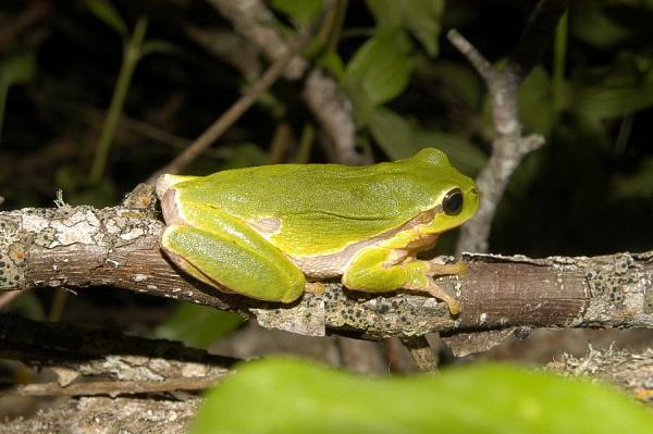
[[[528,132],[551,134],[555,123],[555,107],[551,79],[542,66],[535,66],[521,82],[517,95],[519,119]]]

